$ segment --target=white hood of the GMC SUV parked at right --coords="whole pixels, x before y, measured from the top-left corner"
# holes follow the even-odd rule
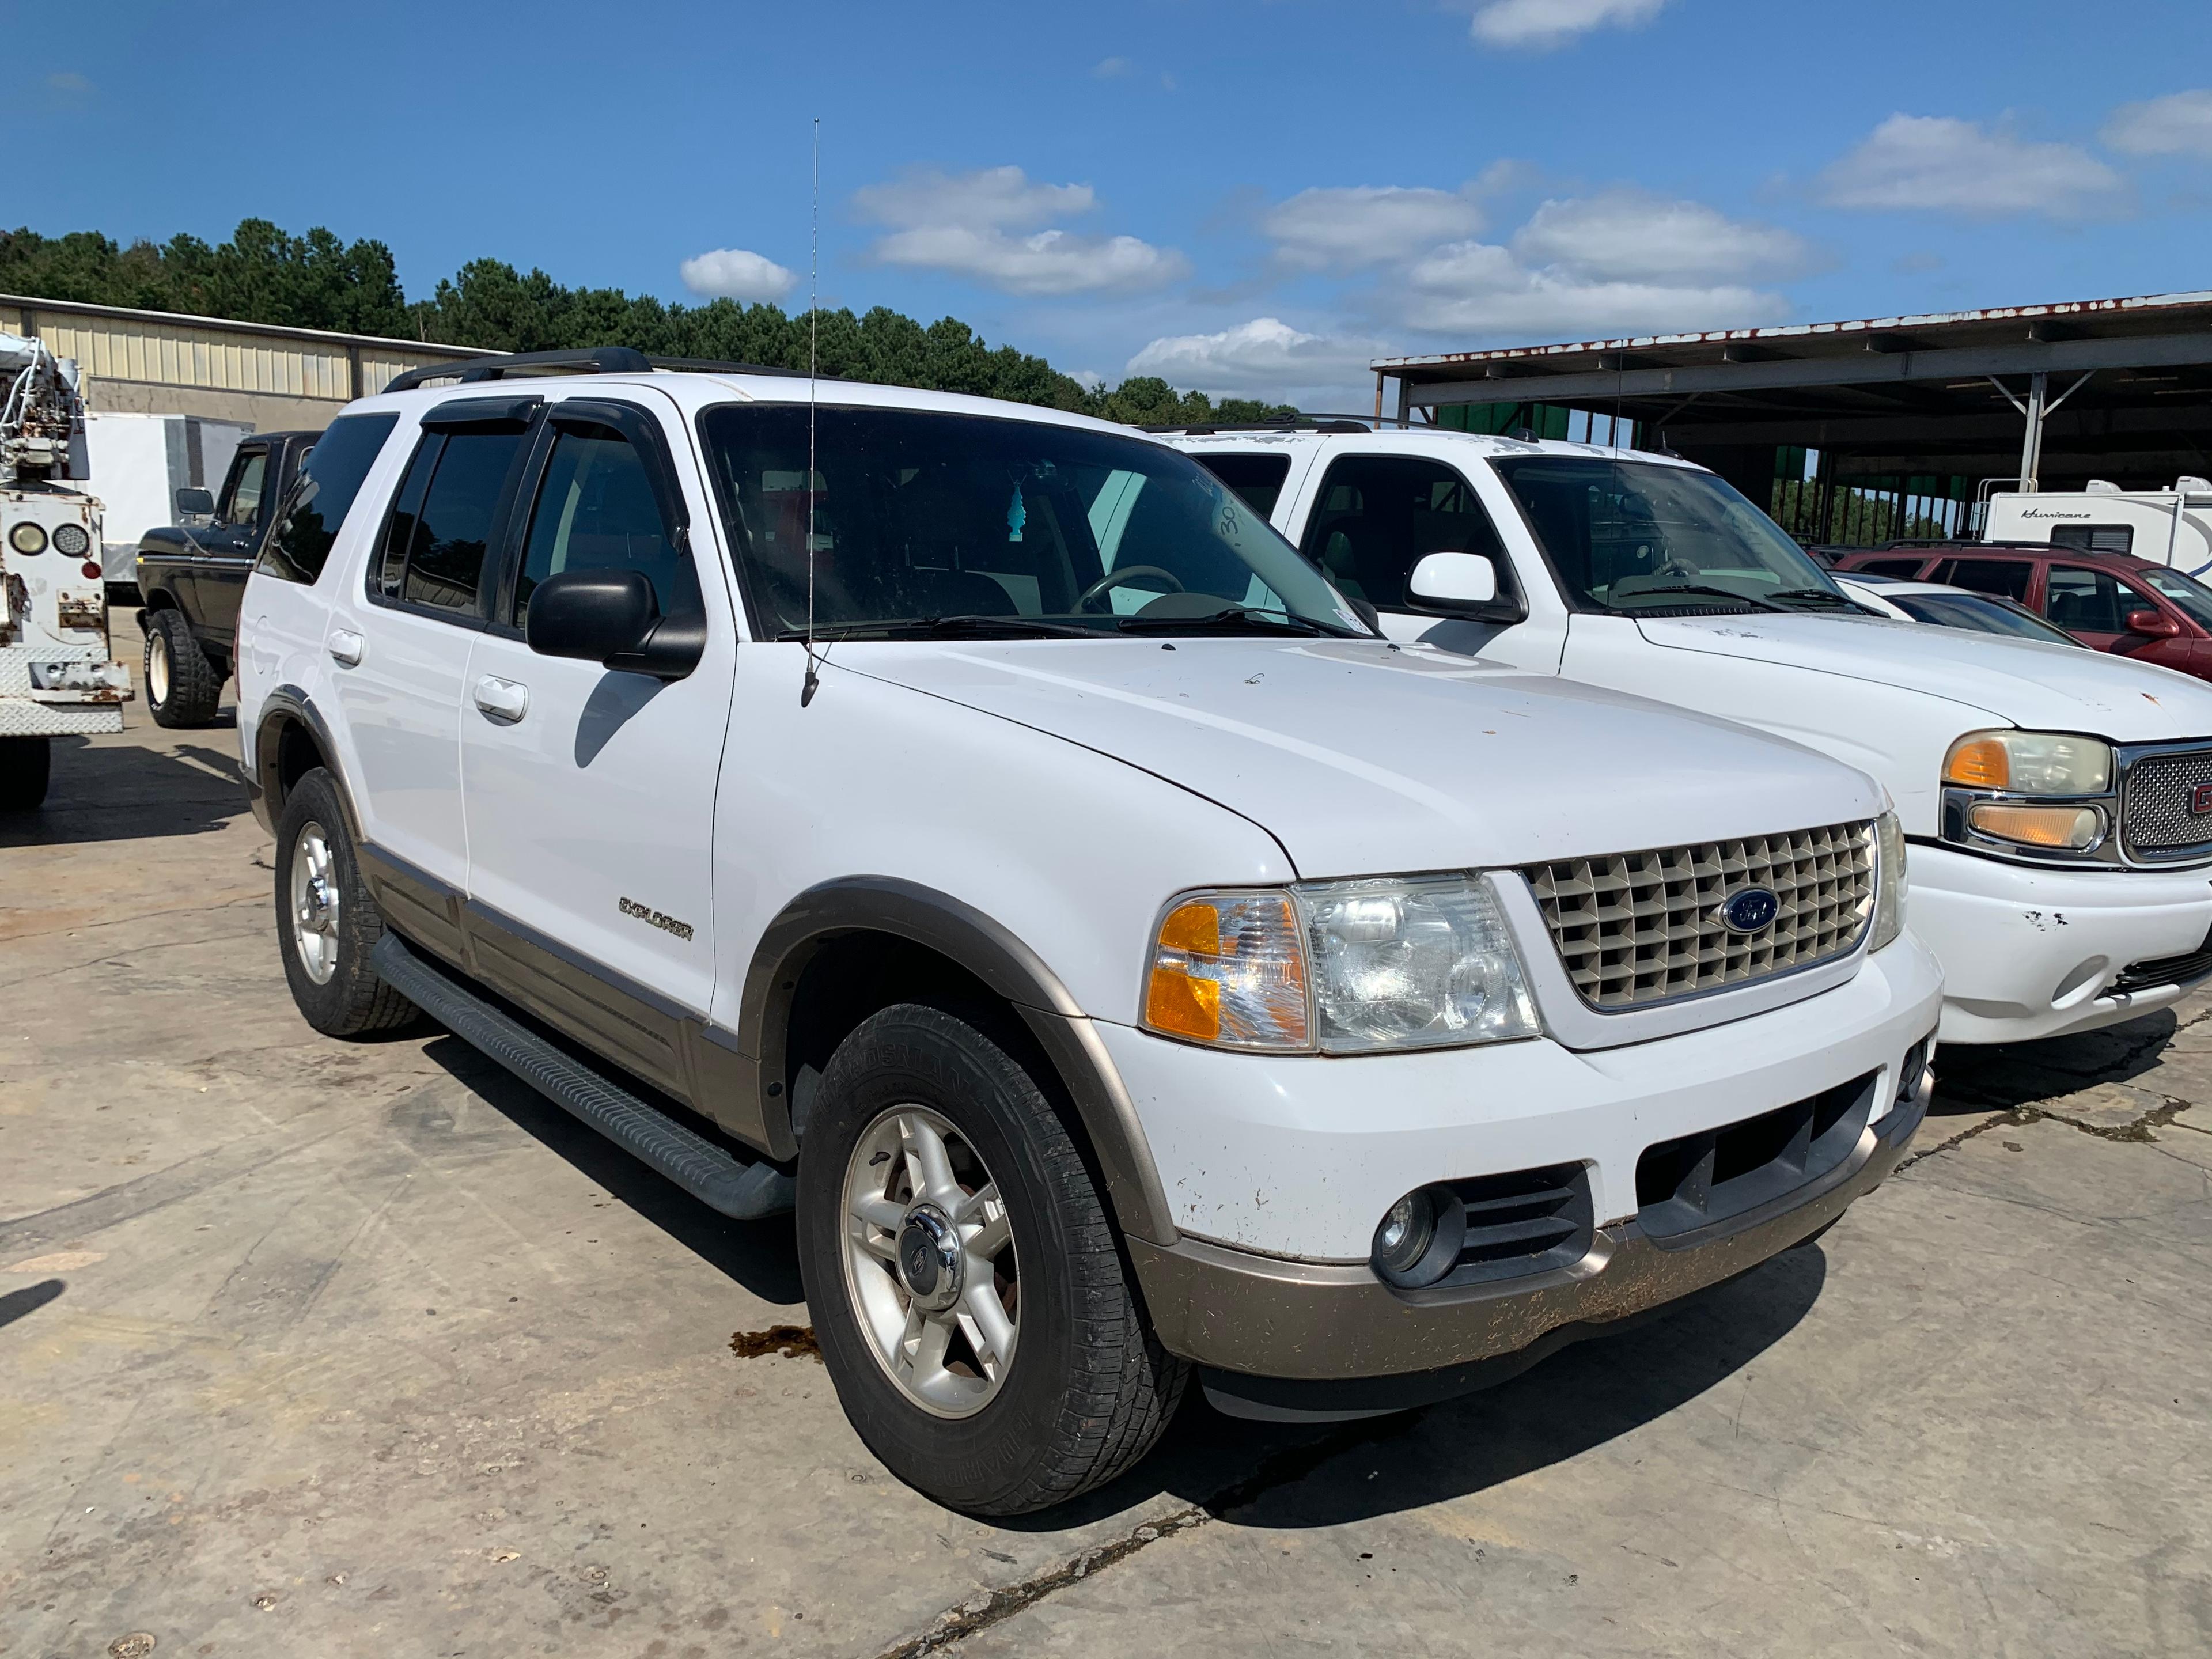
[[[2212,737],[2212,686],[2104,650],[1880,617],[1648,617],[1655,646],[1840,675],[1944,697],[1989,726],[2117,743]]]

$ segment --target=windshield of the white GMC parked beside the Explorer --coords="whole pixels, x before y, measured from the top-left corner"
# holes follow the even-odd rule
[[[1772,518],[1712,473],[1610,456],[1491,465],[1582,611],[1851,604]]]

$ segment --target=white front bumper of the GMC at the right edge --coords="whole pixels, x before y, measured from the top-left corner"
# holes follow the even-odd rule
[[[2112,991],[2137,962],[2194,956],[2212,933],[2208,869],[2051,869],[1913,845],[1907,920],[1944,973],[1944,1042],[2093,1031],[2190,984]]]

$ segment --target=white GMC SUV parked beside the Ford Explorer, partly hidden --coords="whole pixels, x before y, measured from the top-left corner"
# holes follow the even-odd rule
[[[1177,445],[1394,639],[1745,721],[1880,779],[1944,1042],[2132,1020],[2212,973],[2212,686],[1865,615],[1683,460],[1352,420]]]

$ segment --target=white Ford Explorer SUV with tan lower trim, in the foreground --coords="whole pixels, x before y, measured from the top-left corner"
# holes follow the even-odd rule
[[[1102,1482],[1192,1374],[1480,1387],[1920,1121],[1863,772],[1385,641],[1117,427],[549,367],[338,416],[248,586],[285,975],[796,1206],[838,1398],[933,1498]]]

